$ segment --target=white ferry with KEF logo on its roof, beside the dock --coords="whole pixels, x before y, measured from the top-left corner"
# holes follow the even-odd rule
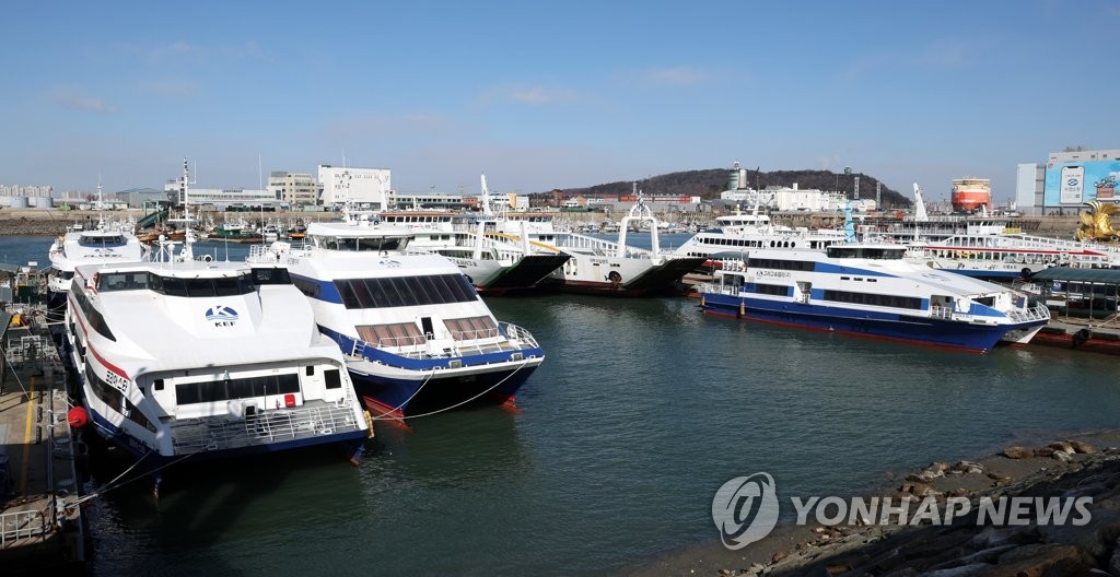
[[[75,268],[67,348],[94,429],[146,466],[325,444],[353,455],[370,416],[288,271],[172,250]]]

